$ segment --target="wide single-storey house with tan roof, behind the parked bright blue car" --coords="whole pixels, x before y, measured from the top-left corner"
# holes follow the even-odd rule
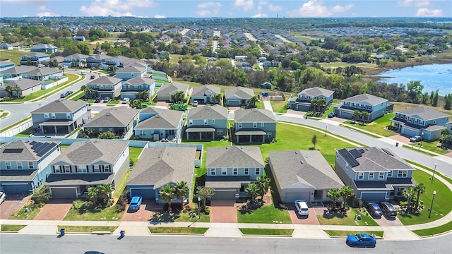
[[[160,198],[160,188],[184,181],[189,186],[188,199],[193,193],[195,147],[146,147],[126,182],[130,195],[143,198],[155,198],[155,202],[164,203]],[[174,202],[180,200],[174,199]],[[185,200],[184,200],[185,201]]]

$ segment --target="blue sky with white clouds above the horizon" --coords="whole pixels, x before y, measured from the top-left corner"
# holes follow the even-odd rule
[[[452,17],[451,0],[0,0],[0,17]]]

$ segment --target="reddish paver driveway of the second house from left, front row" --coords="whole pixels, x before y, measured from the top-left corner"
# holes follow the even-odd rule
[[[37,220],[63,220],[71,209],[73,199],[52,199],[42,207],[35,219]]]

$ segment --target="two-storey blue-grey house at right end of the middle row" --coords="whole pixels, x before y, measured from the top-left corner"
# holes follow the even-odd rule
[[[276,118],[268,109],[234,111],[236,143],[265,143],[276,138]]]

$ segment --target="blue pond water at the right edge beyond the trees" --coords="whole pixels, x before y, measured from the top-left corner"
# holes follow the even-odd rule
[[[379,80],[379,82],[388,84],[407,85],[412,80],[420,80],[421,84],[424,85],[422,92],[430,93],[439,90],[439,95],[452,94],[452,63],[406,67],[384,71],[379,73],[378,76],[388,77]]]

